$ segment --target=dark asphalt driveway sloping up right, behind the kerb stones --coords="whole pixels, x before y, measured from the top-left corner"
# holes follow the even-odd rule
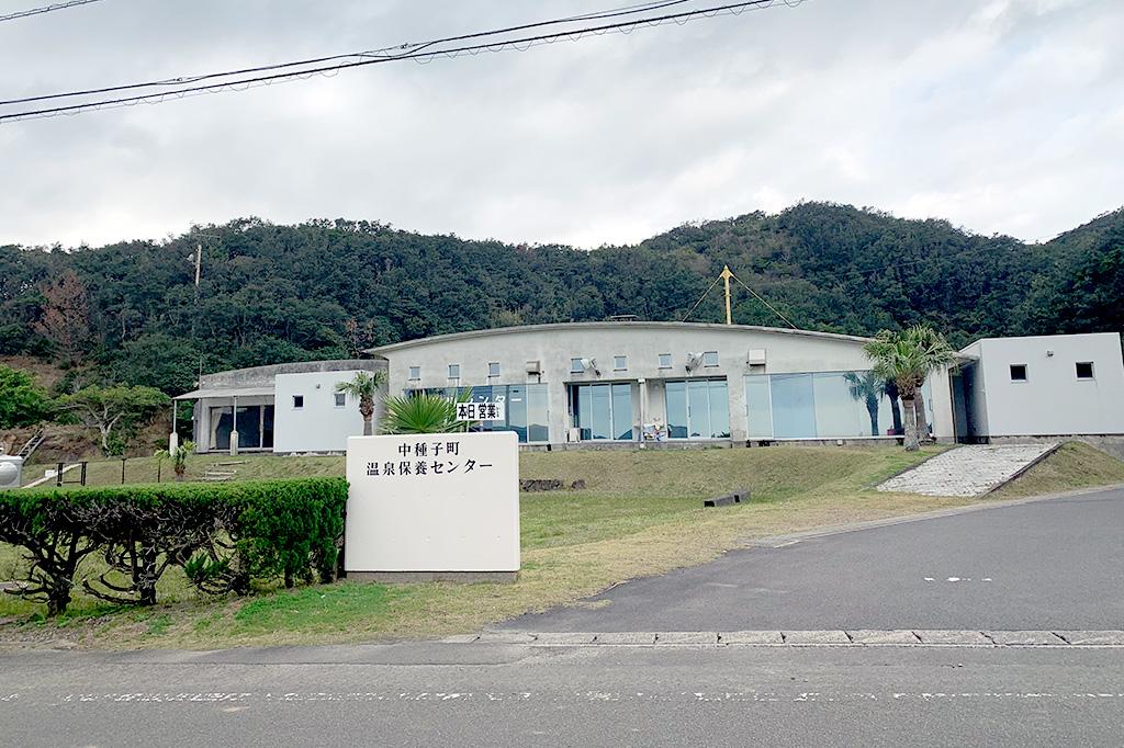
[[[526,631],[1124,628],[1124,491],[747,548]]]

